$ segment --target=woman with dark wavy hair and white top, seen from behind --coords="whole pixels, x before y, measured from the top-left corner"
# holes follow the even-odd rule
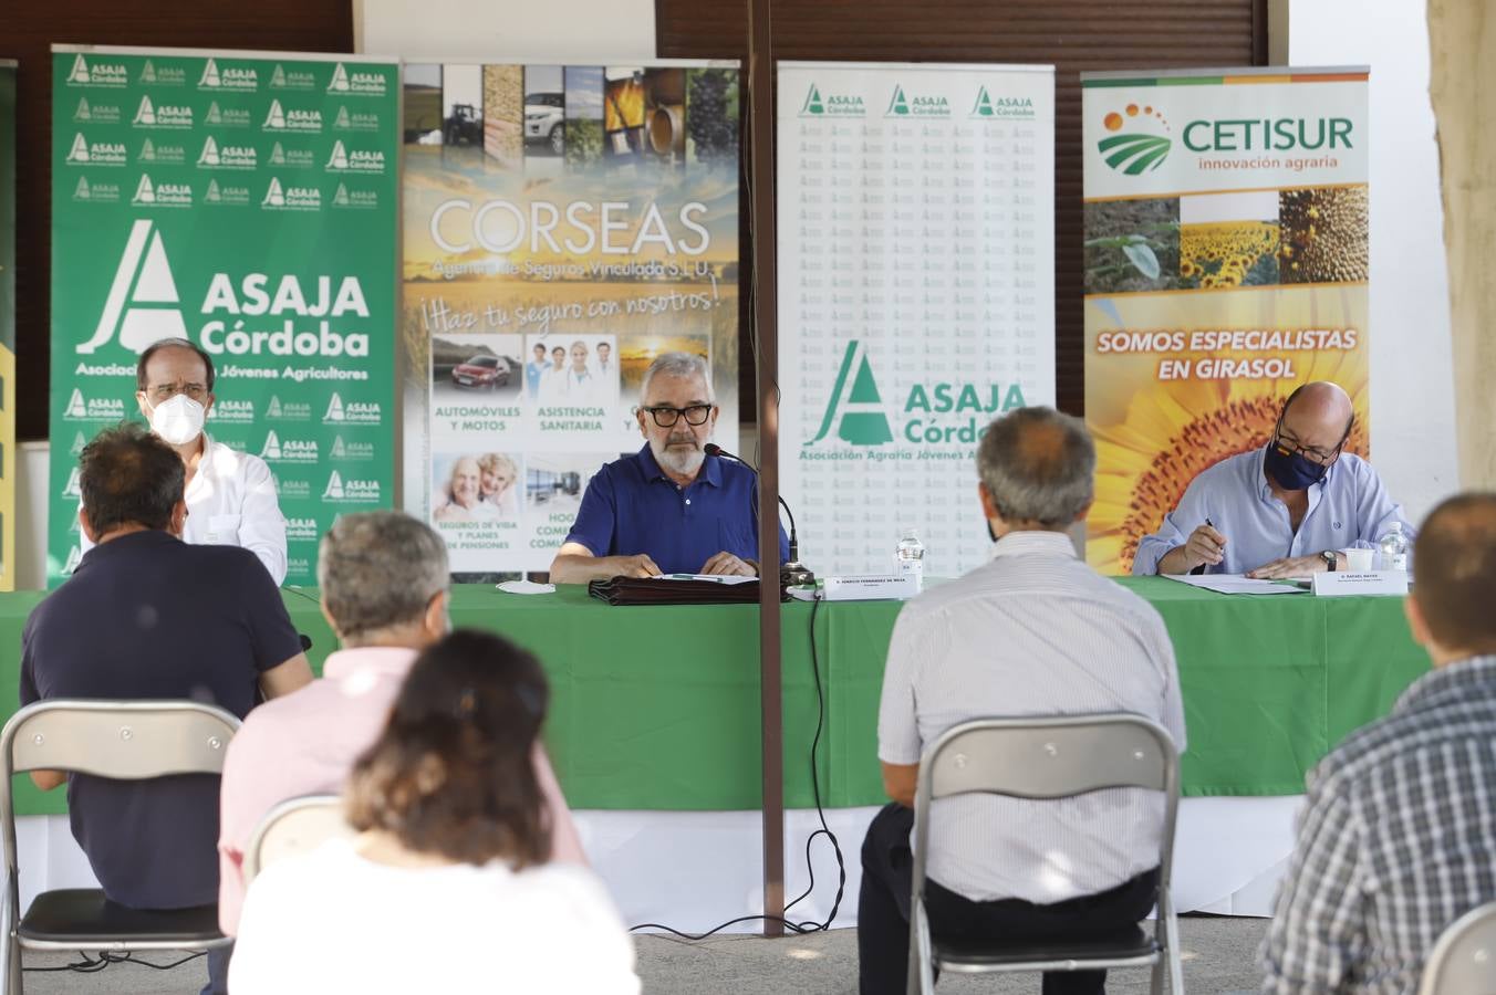
[[[349,777],[359,835],[254,878],[230,991],[636,995],[601,881],[545,864],[531,750],[548,696],[536,659],[500,636],[425,650]]]

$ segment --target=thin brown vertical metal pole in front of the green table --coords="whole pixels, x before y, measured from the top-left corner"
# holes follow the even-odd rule
[[[758,387],[758,596],[763,710],[763,935],[784,935],[784,699],[779,644],[779,342],[775,321],[773,39],[769,0],[748,0],[748,161]]]

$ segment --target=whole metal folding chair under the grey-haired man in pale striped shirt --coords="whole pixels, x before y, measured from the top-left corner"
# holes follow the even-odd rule
[[[931,802],[987,792],[1058,799],[1107,787],[1162,792],[1164,829],[1158,859],[1158,920],[1153,935],[1134,929],[1109,943],[1014,944],[941,943],[931,935],[925,910]],[[956,974],[993,971],[1086,971],[1152,967],[1155,995],[1183,992],[1179,922],[1168,887],[1179,807],[1179,754],[1158,723],[1129,713],[1022,719],[978,719],[947,729],[920,759],[914,795],[914,880],[910,901],[910,995],[932,995],[935,970]]]

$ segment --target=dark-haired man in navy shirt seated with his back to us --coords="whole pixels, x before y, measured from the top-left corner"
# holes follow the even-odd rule
[[[187,698],[241,719],[311,681],[275,581],[250,550],[188,545],[186,468],[139,426],[100,432],[79,468],[84,533],[96,544],[25,622],[21,704],[49,698]],[[132,908],[190,908],[218,898],[218,778],[67,781],[73,837],[105,895]],[[209,955],[223,991],[226,952]]]

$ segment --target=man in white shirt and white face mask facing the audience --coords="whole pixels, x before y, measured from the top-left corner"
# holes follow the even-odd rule
[[[212,408],[212,359],[187,339],[162,339],[135,368],[135,400],[151,432],[187,468],[187,523],[183,539],[238,545],[260,557],[277,586],[286,581],[286,517],[271,468],[257,456],[230,450],[203,432]],[[82,550],[93,545],[81,536]]]

